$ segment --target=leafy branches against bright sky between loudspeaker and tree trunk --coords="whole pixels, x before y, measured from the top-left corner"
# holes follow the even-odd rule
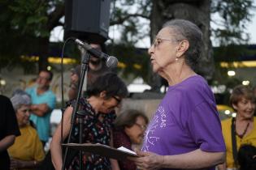
[[[120,28],[120,44],[135,45],[138,40],[150,35],[149,19],[152,1],[119,0],[113,3],[110,25]],[[144,28],[145,26],[147,29]]]

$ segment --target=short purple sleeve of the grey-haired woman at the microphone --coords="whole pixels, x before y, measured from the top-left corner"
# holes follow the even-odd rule
[[[189,116],[189,133],[202,151],[226,151],[215,104],[202,102]]]

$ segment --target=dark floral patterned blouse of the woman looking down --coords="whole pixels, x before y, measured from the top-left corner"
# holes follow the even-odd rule
[[[116,117],[115,112],[97,114],[85,98],[80,99],[80,109],[86,112],[83,119],[83,143],[101,143],[110,146],[111,130],[113,128],[113,121]],[[101,121],[99,120],[99,117],[102,117]],[[72,130],[72,142],[79,142],[79,124],[74,125],[74,130]],[[80,169],[79,152],[73,157],[72,162],[68,165],[67,169]],[[84,153],[83,169],[108,170],[111,169],[111,163],[106,157]]]

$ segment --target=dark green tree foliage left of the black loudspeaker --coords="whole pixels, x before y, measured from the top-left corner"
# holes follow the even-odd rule
[[[0,6],[0,69],[20,63],[21,55],[38,55],[47,66],[50,31],[63,25],[63,1],[2,0]]]

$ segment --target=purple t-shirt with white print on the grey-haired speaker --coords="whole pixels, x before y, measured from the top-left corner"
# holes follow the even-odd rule
[[[145,131],[142,151],[179,155],[198,148],[226,151],[214,95],[195,75],[168,88]]]

